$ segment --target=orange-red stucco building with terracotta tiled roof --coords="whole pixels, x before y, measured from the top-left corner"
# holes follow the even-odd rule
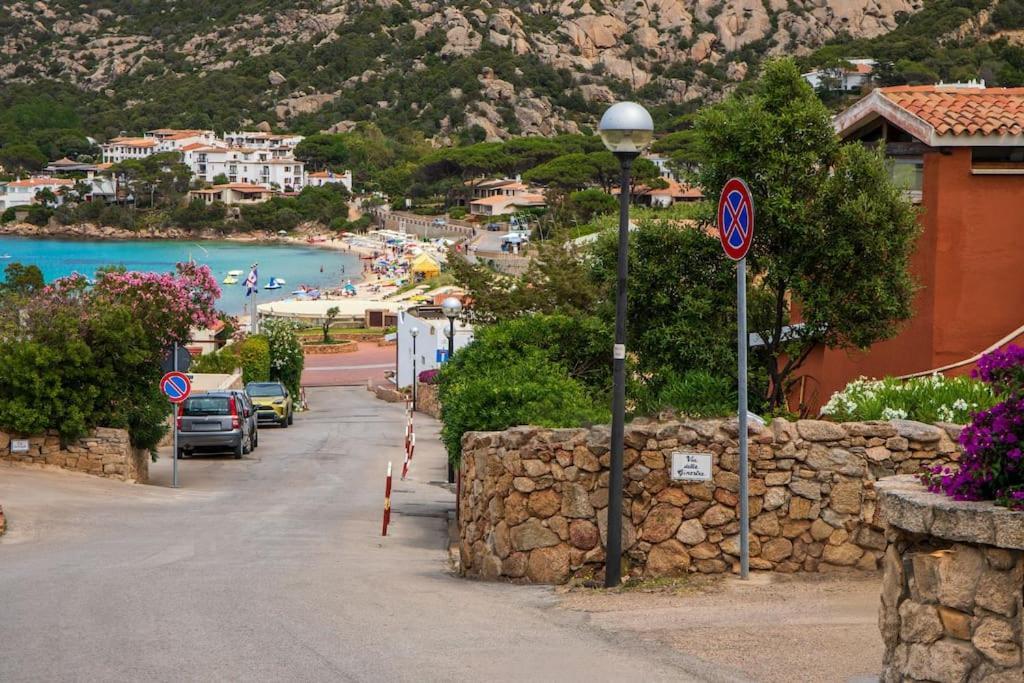
[[[861,375],[964,373],[979,353],[1024,337],[1024,88],[880,88],[835,125],[844,139],[884,144],[920,205],[920,290],[894,339],[812,352],[793,396],[811,412]]]

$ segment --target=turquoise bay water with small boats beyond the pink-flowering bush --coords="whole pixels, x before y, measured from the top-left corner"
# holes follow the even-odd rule
[[[130,242],[36,240],[22,237],[0,237],[0,269],[19,261],[35,264],[47,282],[81,272],[92,276],[104,265],[123,265],[129,270],[168,272],[179,261],[193,259],[205,263],[221,283],[218,307],[228,313],[241,313],[247,302],[243,283],[249,267],[259,263],[260,292],[257,302],[276,301],[290,296],[299,285],[325,288],[338,287],[345,280],[358,281],[361,266],[358,256],[332,249],[298,245],[246,244],[238,242],[176,242],[170,240],[139,240]],[[9,256],[10,258],[6,258]],[[242,270],[238,285],[224,285],[228,270]],[[280,290],[265,290],[270,278],[284,278]]]

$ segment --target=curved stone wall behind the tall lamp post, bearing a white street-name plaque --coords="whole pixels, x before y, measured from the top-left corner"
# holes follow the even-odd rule
[[[751,566],[876,569],[886,548],[874,481],[958,458],[958,427],[910,421],[774,420],[750,429]],[[628,572],[735,571],[735,420],[636,421],[626,428]],[[474,577],[564,583],[603,571],[609,430],[517,427],[463,437],[460,551]],[[670,477],[676,451],[711,454],[714,480]]]

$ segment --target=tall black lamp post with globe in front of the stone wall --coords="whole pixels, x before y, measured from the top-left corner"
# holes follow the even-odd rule
[[[654,135],[654,122],[636,102],[612,104],[597,132],[618,159],[618,270],[615,282],[615,342],[611,352],[611,472],[608,479],[608,540],[604,585],[614,588],[623,573],[623,451],[626,432],[626,278],[630,247],[630,171]]]

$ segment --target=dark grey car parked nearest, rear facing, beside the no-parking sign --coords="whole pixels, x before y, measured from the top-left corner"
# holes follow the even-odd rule
[[[178,457],[229,451],[241,458],[253,449],[252,410],[240,396],[213,391],[189,396],[178,407]]]

